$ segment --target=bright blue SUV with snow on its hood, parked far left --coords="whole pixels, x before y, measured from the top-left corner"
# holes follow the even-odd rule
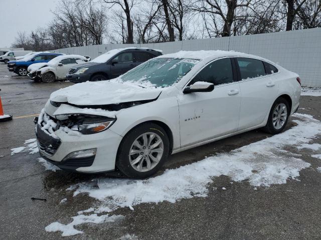
[[[20,76],[26,76],[28,73],[28,66],[39,62],[48,62],[56,56],[63,55],[63,53],[55,52],[41,52],[33,55],[29,55],[21,60],[9,61],[8,68],[9,71],[13,71]]]

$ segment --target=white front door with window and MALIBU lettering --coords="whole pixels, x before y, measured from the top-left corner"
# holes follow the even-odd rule
[[[189,85],[207,81],[214,83],[214,90],[178,97],[182,147],[237,130],[241,92],[239,83],[233,81],[237,77],[233,67],[231,58],[212,61]]]

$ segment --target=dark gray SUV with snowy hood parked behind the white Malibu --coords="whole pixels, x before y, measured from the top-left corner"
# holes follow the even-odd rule
[[[113,49],[77,68],[70,68],[67,80],[77,83],[112,79],[159,55],[161,51],[149,48]]]

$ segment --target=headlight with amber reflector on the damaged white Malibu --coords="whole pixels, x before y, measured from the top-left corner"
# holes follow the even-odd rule
[[[116,118],[93,116],[85,118],[81,124],[71,127],[72,130],[80,131],[83,134],[93,134],[108,129]]]

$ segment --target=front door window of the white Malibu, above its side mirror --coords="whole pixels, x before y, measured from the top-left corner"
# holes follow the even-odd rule
[[[204,67],[189,83],[193,84],[197,81],[207,81],[214,85],[233,82],[233,70],[231,58],[223,58],[213,61]]]

